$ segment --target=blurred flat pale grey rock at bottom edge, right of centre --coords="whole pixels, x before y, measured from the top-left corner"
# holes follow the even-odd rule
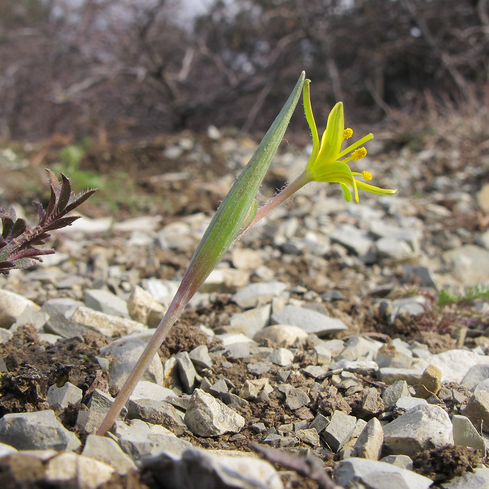
[[[431,479],[392,464],[349,458],[342,460],[334,471],[334,482],[348,488],[427,489]]]

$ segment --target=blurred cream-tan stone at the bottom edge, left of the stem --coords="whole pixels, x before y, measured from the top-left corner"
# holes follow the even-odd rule
[[[109,465],[74,453],[60,453],[45,470],[46,482],[54,487],[81,489],[97,489],[114,473]]]

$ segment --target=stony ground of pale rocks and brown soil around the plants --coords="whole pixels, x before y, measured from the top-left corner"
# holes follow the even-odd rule
[[[0,487],[488,486],[487,134],[458,122],[372,142],[359,170],[396,196],[311,186],[234,244],[109,437],[93,431],[255,143],[211,131],[89,155],[151,203],[87,202],[56,254],[0,277]],[[29,217],[15,189],[39,175],[9,151],[2,205]],[[284,145],[260,198],[307,152]]]

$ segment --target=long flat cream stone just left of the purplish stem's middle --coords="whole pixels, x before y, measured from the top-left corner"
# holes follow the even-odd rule
[[[132,319],[94,311],[85,306],[80,306],[73,313],[71,321],[108,337],[114,336],[115,333],[125,335],[146,330],[144,324],[133,321]]]

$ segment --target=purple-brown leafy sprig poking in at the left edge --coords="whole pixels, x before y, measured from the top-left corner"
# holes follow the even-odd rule
[[[66,175],[61,174],[61,182],[56,175],[46,169],[49,174],[51,198],[46,210],[39,202],[32,202],[39,213],[39,223],[29,227],[24,219],[17,218],[14,209],[0,208],[2,231],[0,235],[0,273],[8,275],[14,268],[28,268],[41,261],[42,255],[54,253],[53,249],[38,248],[45,244],[50,234],[48,231],[71,225],[81,216],[67,214],[87,200],[98,189],[71,195],[71,185]]]

